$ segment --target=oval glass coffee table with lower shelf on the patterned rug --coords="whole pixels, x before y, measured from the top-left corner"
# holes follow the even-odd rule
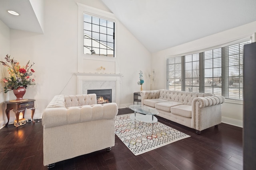
[[[157,115],[159,112],[157,109],[133,104],[129,106],[130,109],[134,111],[134,114],[130,115],[130,119],[136,121],[143,121],[146,123],[152,123],[152,134],[154,132],[154,123],[157,122],[157,118],[154,115]],[[136,125],[136,123],[135,123]]]

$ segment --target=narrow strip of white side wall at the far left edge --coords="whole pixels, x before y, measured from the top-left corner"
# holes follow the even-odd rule
[[[4,61],[4,57],[10,53],[10,29],[0,20],[0,61]],[[1,64],[2,65],[2,64]],[[7,122],[5,114],[6,104],[3,102],[8,100],[8,95],[3,92],[4,83],[2,79],[8,74],[4,71],[4,67],[0,67],[0,128]]]

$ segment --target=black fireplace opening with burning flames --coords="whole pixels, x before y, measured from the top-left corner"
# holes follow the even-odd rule
[[[87,90],[87,94],[96,94],[97,104],[112,102],[112,89],[93,89]]]

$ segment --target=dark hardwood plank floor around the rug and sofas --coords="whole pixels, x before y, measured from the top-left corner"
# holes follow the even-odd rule
[[[119,109],[118,114],[132,113]],[[54,170],[242,170],[242,128],[221,123],[197,135],[194,129],[158,117],[158,121],[191,137],[134,156],[116,137],[110,152],[99,150],[57,162]],[[0,130],[1,170],[46,170],[42,122]]]

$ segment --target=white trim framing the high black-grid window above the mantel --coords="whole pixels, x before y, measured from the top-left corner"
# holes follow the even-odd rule
[[[119,57],[119,21],[116,19],[113,13],[106,12],[103,10],[99,10],[97,8],[93,8],[91,6],[87,6],[84,4],[80,4],[77,2],[78,5],[78,72],[84,72],[83,60],[100,60],[100,61],[112,61],[115,62],[115,73],[118,72],[117,70],[117,57]],[[84,14],[89,14],[92,16],[96,16],[98,18],[103,18],[109,21],[115,22],[115,57],[101,57],[101,56],[91,56],[86,55],[83,53],[83,34],[84,34],[84,25],[82,24],[84,21]]]

